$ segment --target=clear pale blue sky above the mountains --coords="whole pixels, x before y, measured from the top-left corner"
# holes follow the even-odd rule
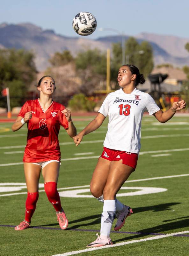
[[[116,35],[99,28],[117,29],[129,36],[148,32],[189,38],[188,0],[6,0],[1,4],[0,23],[31,22],[64,36],[78,36],[72,20],[82,11],[97,19],[96,31],[88,36],[91,39]]]

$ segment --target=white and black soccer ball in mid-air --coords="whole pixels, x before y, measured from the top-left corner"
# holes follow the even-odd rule
[[[77,34],[88,36],[95,31],[97,21],[90,12],[80,12],[74,17],[72,25]]]

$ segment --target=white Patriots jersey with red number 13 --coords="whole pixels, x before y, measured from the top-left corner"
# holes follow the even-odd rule
[[[136,88],[130,94],[122,88],[108,94],[98,111],[109,117],[104,147],[139,153],[142,115],[144,111],[152,115],[158,110],[154,99]]]

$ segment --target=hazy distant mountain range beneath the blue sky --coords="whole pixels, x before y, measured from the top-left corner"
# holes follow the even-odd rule
[[[149,41],[154,51],[155,65],[171,63],[174,66],[189,65],[189,53],[185,50],[187,38],[142,33],[135,36],[139,42]],[[127,39],[128,36],[125,36]],[[24,48],[35,54],[35,64],[39,71],[49,66],[48,59],[55,53],[69,50],[74,56],[86,49],[99,48],[106,51],[113,42],[121,42],[120,36],[99,37],[96,40],[86,37],[68,37],[55,34],[53,30],[43,30],[31,23],[0,24],[0,49]]]

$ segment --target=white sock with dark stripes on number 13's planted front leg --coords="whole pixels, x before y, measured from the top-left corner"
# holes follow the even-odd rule
[[[115,200],[104,200],[103,212],[101,216],[100,235],[104,238],[110,237],[113,220],[115,219]]]

